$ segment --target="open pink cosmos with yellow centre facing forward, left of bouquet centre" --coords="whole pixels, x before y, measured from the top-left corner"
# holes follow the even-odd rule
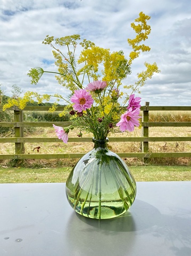
[[[94,99],[89,94],[89,92],[84,89],[80,89],[74,91],[74,94],[71,97],[71,102],[75,103],[73,105],[73,109],[81,112],[83,110],[86,110],[87,108],[90,108],[94,103]]]

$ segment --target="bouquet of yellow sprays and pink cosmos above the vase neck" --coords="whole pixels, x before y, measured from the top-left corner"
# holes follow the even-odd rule
[[[122,80],[131,74],[132,61],[139,57],[140,52],[150,51],[149,46],[141,44],[151,32],[151,27],[147,25],[150,18],[140,12],[139,17],[135,19],[137,25],[132,22],[131,27],[135,30],[136,37],[127,40],[132,48],[128,58],[122,50],[110,52],[109,49],[101,48],[84,39],[79,43],[82,50],[76,59],[80,35],[55,39],[53,36],[46,36],[43,44],[51,45],[53,48],[58,72],[44,71],[41,67],[31,68],[28,73],[31,84],[37,84],[44,73],[55,73],[57,82],[69,90],[70,94],[63,97],[57,93],[40,95],[27,91],[22,98],[9,99],[3,109],[13,105],[23,109],[27,102],[34,102],[34,98],[41,103],[55,97],[56,101],[49,110],[55,111],[59,101],[64,100],[67,106],[60,116],[69,112],[72,125],[64,129],[54,126],[64,143],[67,143],[68,133],[73,128],[79,130],[78,136],[82,136],[82,131],[87,131],[96,139],[105,139],[109,132],[114,132],[118,127],[121,131],[133,131],[134,126],[139,126],[140,109],[140,98],[135,97],[135,92],[140,92],[139,89],[146,80],[160,71],[156,63],[145,63],[146,70],[137,74],[138,81],[135,84],[122,86]],[[57,45],[65,47],[67,51],[62,52],[57,49]]]

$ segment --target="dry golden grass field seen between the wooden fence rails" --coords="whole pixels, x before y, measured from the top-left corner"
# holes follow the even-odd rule
[[[180,112],[150,112],[150,121],[191,121],[190,111]],[[109,137],[139,137],[142,130],[136,128],[133,133],[110,134]],[[7,135],[5,135],[7,137]],[[25,134],[26,137],[55,137],[53,128],[36,128],[35,133]],[[84,134],[83,137],[92,137],[92,134]],[[151,127],[149,128],[150,137],[187,137],[191,136],[191,127]],[[77,137],[77,131],[70,131],[70,137]],[[35,148],[40,146],[39,152]],[[25,153],[27,154],[48,154],[48,153],[86,153],[93,148],[93,143],[71,142],[64,144],[56,143],[25,143]],[[34,150],[35,149],[35,150]],[[140,142],[109,142],[109,149],[115,153],[119,152],[140,152]],[[191,142],[150,142],[150,152],[190,152]],[[14,154],[14,143],[5,143],[1,145],[0,154]],[[155,158],[150,159],[150,163],[157,165],[190,165],[190,158]],[[21,161],[22,166],[37,167],[55,167],[55,166],[73,166],[78,159],[40,159]],[[128,165],[142,165],[142,159],[129,158],[124,159]],[[0,164],[10,165],[9,160],[4,160]]]

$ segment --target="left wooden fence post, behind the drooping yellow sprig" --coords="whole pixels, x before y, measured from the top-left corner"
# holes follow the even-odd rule
[[[15,122],[23,122],[23,111],[22,110],[14,110],[14,121]],[[15,137],[23,137],[23,127],[14,127],[14,135]],[[15,154],[23,154],[24,153],[24,143],[23,142],[15,142]]]

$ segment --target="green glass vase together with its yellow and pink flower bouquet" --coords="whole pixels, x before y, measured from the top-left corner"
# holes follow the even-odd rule
[[[57,72],[32,68],[28,73],[31,83],[37,84],[44,73],[55,73],[57,82],[70,94],[63,97],[28,91],[23,98],[10,99],[4,105],[4,110],[13,105],[22,109],[34,98],[41,103],[55,97],[56,102],[50,109],[55,111],[62,99],[66,106],[60,116],[69,112],[72,125],[63,128],[53,124],[56,135],[67,143],[69,131],[74,128],[78,130],[79,137],[84,131],[93,134],[94,149],[74,166],[66,186],[71,206],[89,218],[108,219],[121,215],[135,200],[134,178],[122,159],[109,151],[106,144],[110,132],[133,131],[135,126],[140,126],[140,97],[135,97],[135,92],[140,92],[139,88],[146,80],[160,72],[156,63],[145,63],[146,70],[137,74],[138,80],[134,85],[122,84],[131,74],[132,61],[139,57],[141,51],[150,51],[149,46],[142,44],[151,32],[147,25],[149,19],[148,15],[140,12],[135,19],[137,25],[132,22],[136,37],[128,39],[132,48],[128,58],[122,50],[110,52],[86,39],[80,41],[80,35],[60,38],[47,35],[43,43],[53,48]],[[77,59],[78,42],[82,49]],[[61,51],[57,45],[65,47],[66,51]]]

